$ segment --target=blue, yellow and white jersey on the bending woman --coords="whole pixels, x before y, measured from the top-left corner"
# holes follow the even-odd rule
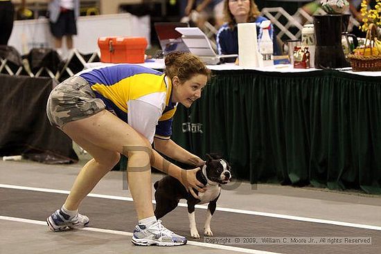
[[[170,100],[172,82],[164,73],[133,64],[98,67],[78,73],[105,102],[106,108],[152,143],[153,134],[168,139],[177,103]]]

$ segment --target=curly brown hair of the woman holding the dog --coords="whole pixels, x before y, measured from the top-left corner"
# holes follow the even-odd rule
[[[166,70],[164,71],[168,78],[172,80],[177,76],[181,83],[190,80],[194,75],[206,75],[208,80],[211,78],[209,70],[199,57],[186,52],[171,52],[166,55]]]

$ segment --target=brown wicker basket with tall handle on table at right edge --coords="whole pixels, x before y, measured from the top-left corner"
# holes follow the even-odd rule
[[[381,55],[372,55],[372,48],[375,46],[375,37],[376,37],[376,28],[375,24],[371,24],[366,33],[366,42],[369,40],[369,46],[371,47],[371,55],[348,55],[348,60],[351,62],[352,71],[381,71]],[[365,53],[365,48],[364,48]]]

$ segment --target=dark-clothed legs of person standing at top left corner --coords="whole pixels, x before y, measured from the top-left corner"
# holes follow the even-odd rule
[[[15,8],[11,2],[0,1],[0,45],[8,45],[13,28]]]

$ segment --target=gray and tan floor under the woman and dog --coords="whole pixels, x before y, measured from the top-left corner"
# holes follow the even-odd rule
[[[381,197],[377,195],[235,183],[238,187],[229,185],[227,189],[233,190],[223,190],[218,201],[218,208],[234,210],[218,210],[212,219],[215,236],[371,237],[373,244],[368,246],[247,244],[213,248],[204,245],[203,239],[193,240],[188,237],[190,244],[186,246],[141,248],[130,243],[130,232],[136,224],[131,201],[88,197],[81,211],[91,218],[89,229],[102,232],[76,230],[51,233],[46,230],[44,218],[62,204],[66,194],[6,186],[69,190],[80,165],[1,161],[0,170],[0,216],[3,216],[0,217],[0,253],[381,253]],[[160,177],[160,174],[154,174],[152,181]],[[110,172],[92,193],[131,197],[123,179],[123,172]],[[197,226],[202,233],[205,210],[197,209],[196,213]],[[287,215],[295,218],[284,219]],[[304,217],[333,222],[326,221],[328,223],[322,224]],[[18,220],[15,218],[31,221],[9,220]],[[177,233],[188,235],[187,220],[186,208],[179,207],[164,217],[163,223]],[[340,222],[334,221],[368,226],[339,226],[337,224]],[[369,226],[378,228],[371,230]],[[222,247],[231,249],[223,250]]]

